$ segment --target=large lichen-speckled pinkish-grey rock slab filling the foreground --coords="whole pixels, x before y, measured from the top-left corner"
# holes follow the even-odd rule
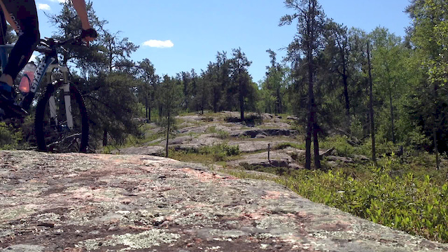
[[[0,251],[448,251],[273,182],[148,155],[0,152]]]

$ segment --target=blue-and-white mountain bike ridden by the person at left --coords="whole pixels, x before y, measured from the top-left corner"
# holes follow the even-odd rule
[[[87,152],[89,123],[83,97],[69,80],[69,69],[59,64],[58,53],[64,45],[82,45],[80,36],[57,41],[41,39],[35,49],[44,57],[30,80],[29,92],[22,95],[18,104],[30,111],[36,108],[34,131],[38,151],[53,153]],[[6,66],[7,51],[14,45],[0,45],[2,69]],[[45,83],[45,85],[41,85]]]

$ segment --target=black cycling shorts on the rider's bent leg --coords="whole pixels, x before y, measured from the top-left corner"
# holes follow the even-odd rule
[[[31,54],[40,40],[38,30],[38,18],[36,3],[34,0],[2,0],[8,13],[0,14],[0,43],[5,43],[6,20],[4,15],[10,15],[10,18],[18,27],[16,31],[19,39],[10,52],[8,64],[3,73],[9,74],[15,79],[22,68],[31,58]],[[1,8],[0,8],[1,9]]]

